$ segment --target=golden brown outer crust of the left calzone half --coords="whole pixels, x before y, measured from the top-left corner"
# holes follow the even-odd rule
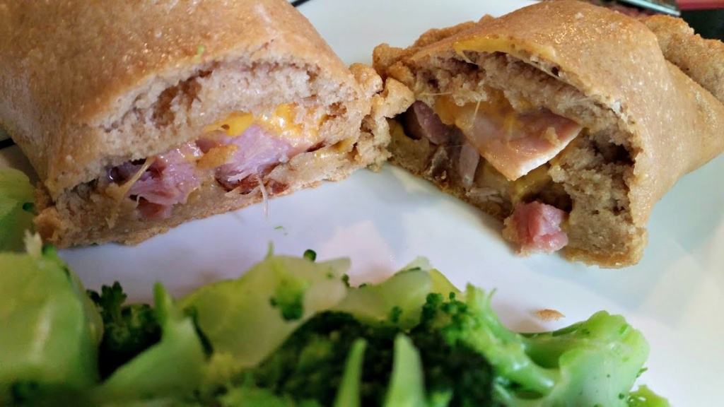
[[[347,68],[283,0],[0,1],[0,50],[0,124],[54,197],[98,176],[101,160],[159,153],[226,114],[195,112],[183,128],[133,140],[140,148],[114,133],[203,72],[293,65],[330,83],[310,95],[320,104],[359,98]]]

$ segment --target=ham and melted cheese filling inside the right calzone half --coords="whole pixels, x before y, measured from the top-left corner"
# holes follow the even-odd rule
[[[416,101],[403,117],[405,134],[449,151],[444,177],[451,188],[506,217],[505,237],[521,251],[560,250],[568,244],[571,201],[552,182],[548,163],[584,129],[547,109],[513,109],[500,92],[488,96],[463,106],[448,96],[432,107]]]

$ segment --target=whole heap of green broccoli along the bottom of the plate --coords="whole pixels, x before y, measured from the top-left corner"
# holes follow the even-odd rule
[[[270,253],[178,306],[157,284],[151,308],[118,283],[85,295],[53,248],[27,246],[0,254],[0,404],[668,406],[631,392],[648,345],[623,317],[518,334],[424,259],[350,288],[348,261]]]

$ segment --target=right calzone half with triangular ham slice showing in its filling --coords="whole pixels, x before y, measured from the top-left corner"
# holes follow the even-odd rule
[[[648,23],[660,38],[673,24]],[[710,50],[698,71],[638,20],[578,1],[378,46],[376,70],[416,98],[392,122],[392,161],[504,219],[523,253],[634,264],[652,206],[724,148],[718,71],[701,67],[720,66],[721,44],[679,31]]]

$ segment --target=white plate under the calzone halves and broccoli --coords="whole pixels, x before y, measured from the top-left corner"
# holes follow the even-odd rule
[[[427,28],[526,4],[311,0],[300,10],[351,63],[369,62],[377,43],[405,46]],[[7,161],[8,154],[0,156]],[[515,330],[551,330],[601,309],[625,315],[651,344],[642,382],[676,406],[714,406],[724,378],[723,176],[720,157],[684,177],[654,209],[644,260],[620,270],[558,256],[516,257],[498,222],[392,167],[275,199],[268,219],[256,206],[189,222],[136,247],[80,248],[62,256],[88,287],[119,280],[133,299],[146,300],[156,280],[182,295],[237,277],[264,256],[269,242],[277,253],[313,248],[321,259],[350,256],[357,281],[379,280],[423,255],[460,287],[497,288],[494,307]],[[533,313],[543,308],[566,317],[539,321]]]

